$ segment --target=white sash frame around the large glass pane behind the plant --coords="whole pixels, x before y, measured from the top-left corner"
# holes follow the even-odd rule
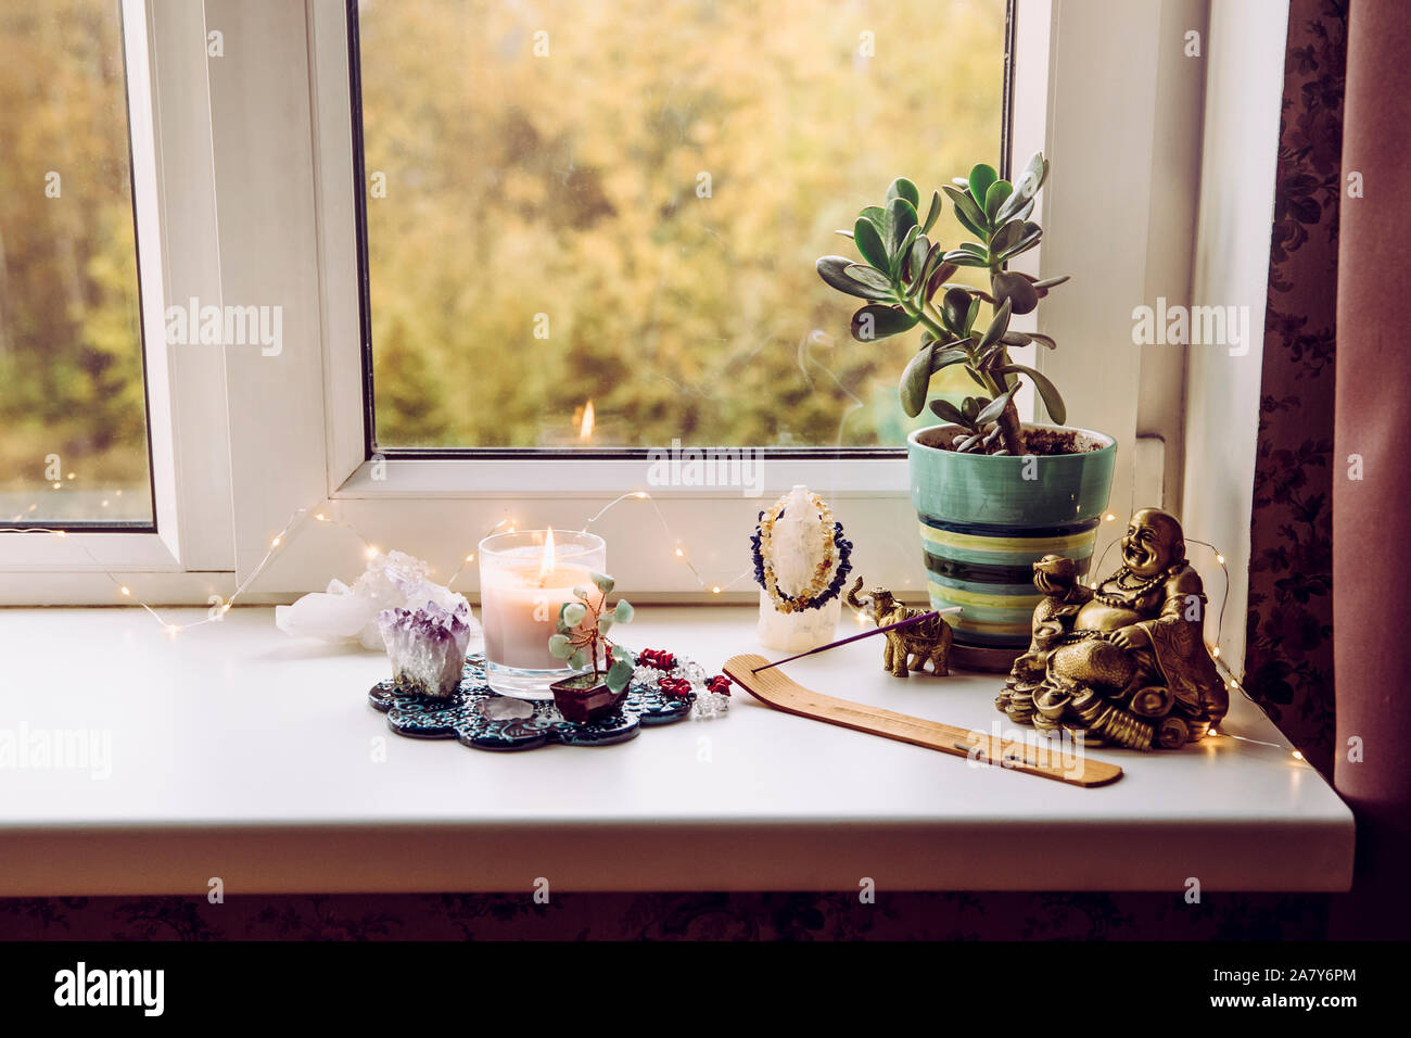
[[[1123,347],[1118,336],[1130,328],[1132,301],[1146,298],[1151,113],[1158,110],[1161,13],[1161,3],[1060,0],[1020,0],[1015,13],[1010,153],[1022,162],[1031,151],[1044,150],[1061,171],[1044,192],[1046,246],[1026,258],[1036,273],[1084,274],[1046,302],[1040,319],[1067,346],[1037,360],[1064,387],[1071,415],[1094,415],[1091,425],[1122,443],[1132,443],[1136,435],[1136,394],[1113,394],[1101,387],[1112,381],[1134,387],[1140,367],[1140,353],[1130,343]],[[364,531],[378,528],[370,534],[374,539],[398,539],[401,530],[415,531],[419,554],[444,565],[463,558],[483,532],[505,517],[525,525],[579,527],[618,494],[646,490],[697,569],[707,575],[707,583],[714,586],[715,579],[724,585],[748,568],[746,537],[761,504],[794,483],[807,483],[834,501],[858,545],[854,555],[858,572],[909,596],[924,593],[920,552],[910,537],[914,514],[906,462],[900,458],[770,459],[765,465],[763,501],[742,500],[738,491],[728,490],[652,487],[645,479],[645,462],[368,460],[363,431],[353,153],[347,131],[347,24],[339,0],[313,0],[309,16],[312,107],[319,141],[319,241],[325,257],[326,497],[341,518]],[[1120,100],[1110,96],[1106,83],[1094,82],[1092,68],[1112,69],[1113,82],[1123,83]],[[1072,103],[1051,107],[1047,100],[1060,96],[1055,92],[1072,95]],[[1101,117],[1094,117],[1095,112]],[[1130,189],[1118,199],[1094,199],[1086,186],[1092,182],[1088,168],[1105,165],[1112,154],[1132,157],[1122,178]],[[1089,233],[1098,223],[1095,206],[1120,210],[1119,219],[1130,220],[1132,233],[1116,244],[1110,237],[1095,243]],[[1074,347],[1085,340],[1099,342],[1099,336],[1109,349]],[[1113,484],[1113,506],[1119,511],[1130,506],[1130,453],[1119,452]],[[687,568],[673,565],[677,545],[650,506],[619,504],[594,528],[607,537],[610,568],[624,587],[646,597],[711,600],[708,593],[703,596]],[[734,585],[734,590],[739,597],[755,593],[748,579]]]

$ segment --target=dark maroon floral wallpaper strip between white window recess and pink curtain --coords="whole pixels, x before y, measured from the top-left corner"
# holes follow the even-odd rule
[[[1250,527],[1245,685],[1332,775],[1333,339],[1348,6],[1294,0]]]

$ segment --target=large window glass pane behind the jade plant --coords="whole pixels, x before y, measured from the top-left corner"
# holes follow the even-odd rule
[[[998,164],[1003,0],[358,14],[378,446],[903,441],[919,336],[851,339],[814,261]]]

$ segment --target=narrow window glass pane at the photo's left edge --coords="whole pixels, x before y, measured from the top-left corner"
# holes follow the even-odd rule
[[[151,521],[117,0],[0,3],[0,523]]]

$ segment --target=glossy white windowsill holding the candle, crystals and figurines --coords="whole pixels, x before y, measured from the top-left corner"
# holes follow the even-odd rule
[[[172,610],[176,621],[203,616]],[[753,609],[643,606],[636,647],[715,671]],[[845,619],[845,626],[851,620]],[[851,633],[851,627],[842,630]],[[268,609],[171,640],[135,609],[0,612],[0,729],[106,729],[113,768],[0,768],[0,895],[532,890],[1340,891],[1353,821],[1285,748],[1102,750],[1079,789],[770,710],[604,748],[492,754],[392,734],[385,658]],[[989,729],[993,675],[907,682],[865,641],[790,665],[818,691]],[[1285,746],[1236,698],[1222,729]],[[385,736],[387,763],[371,740]]]

